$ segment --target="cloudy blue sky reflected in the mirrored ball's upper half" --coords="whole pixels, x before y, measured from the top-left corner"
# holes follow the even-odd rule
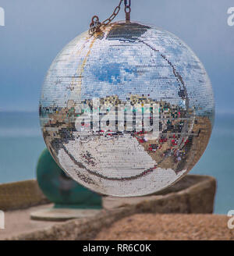
[[[70,76],[77,73],[77,66],[86,58],[90,48],[89,40],[83,47],[86,37],[87,34],[76,37],[58,56],[61,58],[62,55],[73,53],[73,57],[67,59],[62,66],[56,61],[51,66],[44,84],[49,101],[44,98],[42,105],[50,105],[51,101],[55,101],[65,106],[64,98],[79,102],[80,96],[83,100],[118,95],[120,99],[126,100],[129,94],[150,94],[153,99],[166,99],[172,104],[181,105],[178,95],[181,84],[176,80],[172,66],[161,57],[165,55],[175,66],[176,72],[183,77],[190,107],[194,106],[197,113],[212,110],[214,102],[211,84],[199,59],[178,37],[156,28],[147,29],[140,37],[134,37],[134,41],[97,38],[82,73],[82,84],[89,86],[81,86],[80,95],[76,90],[70,91]],[[55,69],[61,76],[59,81],[53,74]],[[79,73],[76,79],[79,79],[78,76]],[[49,91],[47,86],[50,87]],[[58,87],[61,97],[58,97]],[[204,95],[207,95],[207,100],[204,100]]]

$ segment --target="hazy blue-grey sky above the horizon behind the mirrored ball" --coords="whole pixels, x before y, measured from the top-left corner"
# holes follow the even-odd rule
[[[0,111],[37,111],[41,84],[55,55],[105,20],[119,0],[0,0]],[[176,34],[204,63],[215,91],[216,111],[234,112],[234,27],[227,24],[232,0],[132,0],[132,20]],[[121,11],[117,20],[123,20]]]

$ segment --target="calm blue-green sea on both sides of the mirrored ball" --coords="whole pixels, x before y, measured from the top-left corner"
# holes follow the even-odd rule
[[[37,112],[0,112],[0,183],[36,178],[37,159],[46,148]],[[211,140],[190,174],[218,182],[215,213],[234,210],[234,114],[218,114]]]

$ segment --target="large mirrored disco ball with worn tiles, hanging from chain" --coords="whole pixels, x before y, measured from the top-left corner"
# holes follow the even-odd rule
[[[41,130],[78,183],[119,197],[152,194],[189,172],[214,118],[210,80],[173,34],[111,23],[71,41],[51,64]]]

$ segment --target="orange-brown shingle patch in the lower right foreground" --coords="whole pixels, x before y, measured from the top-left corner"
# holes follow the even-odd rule
[[[229,219],[211,214],[136,214],[101,229],[95,240],[234,240]]]

